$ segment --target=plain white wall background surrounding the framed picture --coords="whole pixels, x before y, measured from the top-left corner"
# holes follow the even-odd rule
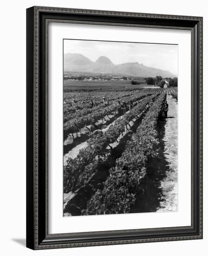
[[[208,70],[206,0],[4,1],[0,15],[0,253],[1,255],[206,255],[208,243],[208,87],[204,79],[204,239],[32,251],[26,238],[26,8],[40,5],[203,16],[204,77]]]

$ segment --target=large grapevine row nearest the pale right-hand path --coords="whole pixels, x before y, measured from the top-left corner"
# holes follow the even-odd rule
[[[136,130],[110,176],[104,189],[98,189],[87,204],[84,215],[128,213],[136,199],[136,188],[146,173],[146,163],[157,153],[156,125],[166,99],[161,94],[152,104],[142,123]]]

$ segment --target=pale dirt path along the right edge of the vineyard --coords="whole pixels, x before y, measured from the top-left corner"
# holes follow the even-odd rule
[[[165,123],[164,157],[168,162],[166,177],[161,182],[163,201],[157,212],[178,210],[178,105],[171,95],[167,95],[169,104],[168,118]]]

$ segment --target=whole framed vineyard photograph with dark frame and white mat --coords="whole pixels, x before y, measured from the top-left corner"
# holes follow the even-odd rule
[[[26,246],[202,239],[202,17],[26,19]]]

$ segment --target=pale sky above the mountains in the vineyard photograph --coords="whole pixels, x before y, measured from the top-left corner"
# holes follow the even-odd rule
[[[178,74],[178,46],[168,44],[64,40],[64,53],[83,54],[91,61],[106,56],[114,64],[138,62]]]

